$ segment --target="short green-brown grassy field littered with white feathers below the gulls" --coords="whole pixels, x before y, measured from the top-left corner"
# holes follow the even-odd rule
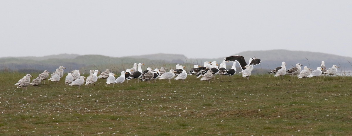
[[[61,80],[23,91],[13,85],[23,76],[0,73],[0,135],[352,135],[352,77],[99,79],[80,90]]]

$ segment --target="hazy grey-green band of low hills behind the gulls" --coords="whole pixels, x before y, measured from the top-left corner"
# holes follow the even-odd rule
[[[288,50],[268,50],[268,51],[245,51],[233,55],[244,56],[248,61],[251,57],[256,57],[262,60],[260,65],[254,66],[254,72],[266,73],[270,69],[281,66],[281,62],[285,61],[287,69],[293,67],[296,63],[301,63],[303,66],[316,69],[320,66],[321,61],[325,61],[326,67],[332,65],[340,66],[340,70],[352,70],[349,62],[352,62],[351,57],[338,56],[333,54],[307,52],[307,51],[288,51]],[[67,71],[74,69],[82,72],[88,72],[90,69],[112,69],[114,72],[121,72],[127,68],[131,68],[133,63],[142,62],[146,67],[160,68],[165,66],[168,69],[175,69],[176,64],[186,66],[189,70],[193,65],[203,65],[204,61],[218,61],[228,56],[216,59],[209,58],[186,58],[181,54],[149,54],[141,56],[128,57],[108,57],[102,55],[77,55],[77,54],[58,54],[44,57],[4,57],[0,58],[0,71],[19,71],[19,72],[42,72],[43,70],[55,71],[60,65],[65,66]],[[348,62],[349,61],[349,62]],[[230,69],[232,63],[227,63],[227,69]],[[237,65],[237,69],[240,69]],[[239,70],[240,71],[240,70]]]

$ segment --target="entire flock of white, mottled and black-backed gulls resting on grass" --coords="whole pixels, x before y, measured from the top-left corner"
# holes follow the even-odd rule
[[[233,65],[231,69],[227,70],[226,62],[229,61],[233,61]],[[243,56],[230,56],[224,58],[219,67],[216,61],[205,61],[203,63],[203,66],[194,65],[194,67],[189,72],[186,72],[186,70],[184,70],[184,68],[186,67],[180,64],[176,65],[175,70],[171,69],[169,70],[169,72],[166,72],[166,70],[168,69],[166,69],[165,67],[161,67],[160,69],[152,69],[148,67],[145,71],[143,71],[143,63],[134,63],[132,68],[126,69],[126,71],[122,71],[121,76],[119,76],[118,78],[115,78],[116,75],[112,73],[109,69],[106,69],[101,73],[98,70],[90,70],[90,75],[87,78],[81,76],[79,70],[73,70],[68,73],[68,75],[65,77],[65,84],[68,84],[70,86],[79,86],[80,88],[80,86],[84,83],[86,85],[95,84],[95,82],[97,82],[100,78],[106,79],[106,84],[112,84],[113,86],[117,83],[124,83],[125,81],[128,82],[128,80],[131,79],[138,79],[138,82],[139,80],[156,82],[156,79],[168,79],[169,83],[171,83],[171,79],[174,79],[182,80],[183,83],[188,75],[195,75],[197,78],[200,78],[201,81],[207,80],[210,83],[210,80],[215,79],[216,75],[235,75],[237,73],[236,62],[240,65],[241,68],[241,72],[238,73],[242,74],[242,77],[247,78],[249,80],[254,66],[260,64],[262,60],[258,58],[250,58],[249,63],[246,63]],[[282,62],[281,66],[268,73],[275,74],[274,77],[281,76],[282,79],[284,78],[284,75],[291,75],[291,77],[297,76],[298,78],[310,78],[319,77],[321,75],[335,75],[337,73],[337,68],[339,68],[337,65],[333,65],[331,68],[326,69],[324,61],[321,61],[321,66],[317,67],[314,71],[307,66],[304,66],[302,70],[302,65],[299,63],[297,63],[295,67],[286,70],[286,65],[287,64],[285,62]],[[32,76],[30,74],[27,74],[22,79],[20,79],[15,85],[17,85],[18,88],[24,87],[24,89],[27,89],[28,85],[38,86],[39,84],[41,84],[42,80],[45,84],[45,80],[48,78],[48,80],[51,82],[59,82],[60,79],[64,76],[64,69],[66,69],[64,66],[59,66],[59,68],[56,69],[56,71],[50,75],[50,78],[50,72],[45,70],[43,73],[40,73],[37,78],[33,79],[31,83],[30,77]],[[99,76],[98,73],[100,73]]]

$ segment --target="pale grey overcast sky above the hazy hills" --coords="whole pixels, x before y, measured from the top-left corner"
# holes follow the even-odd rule
[[[273,49],[352,57],[351,7],[352,0],[1,0],[0,57],[218,58]]]

